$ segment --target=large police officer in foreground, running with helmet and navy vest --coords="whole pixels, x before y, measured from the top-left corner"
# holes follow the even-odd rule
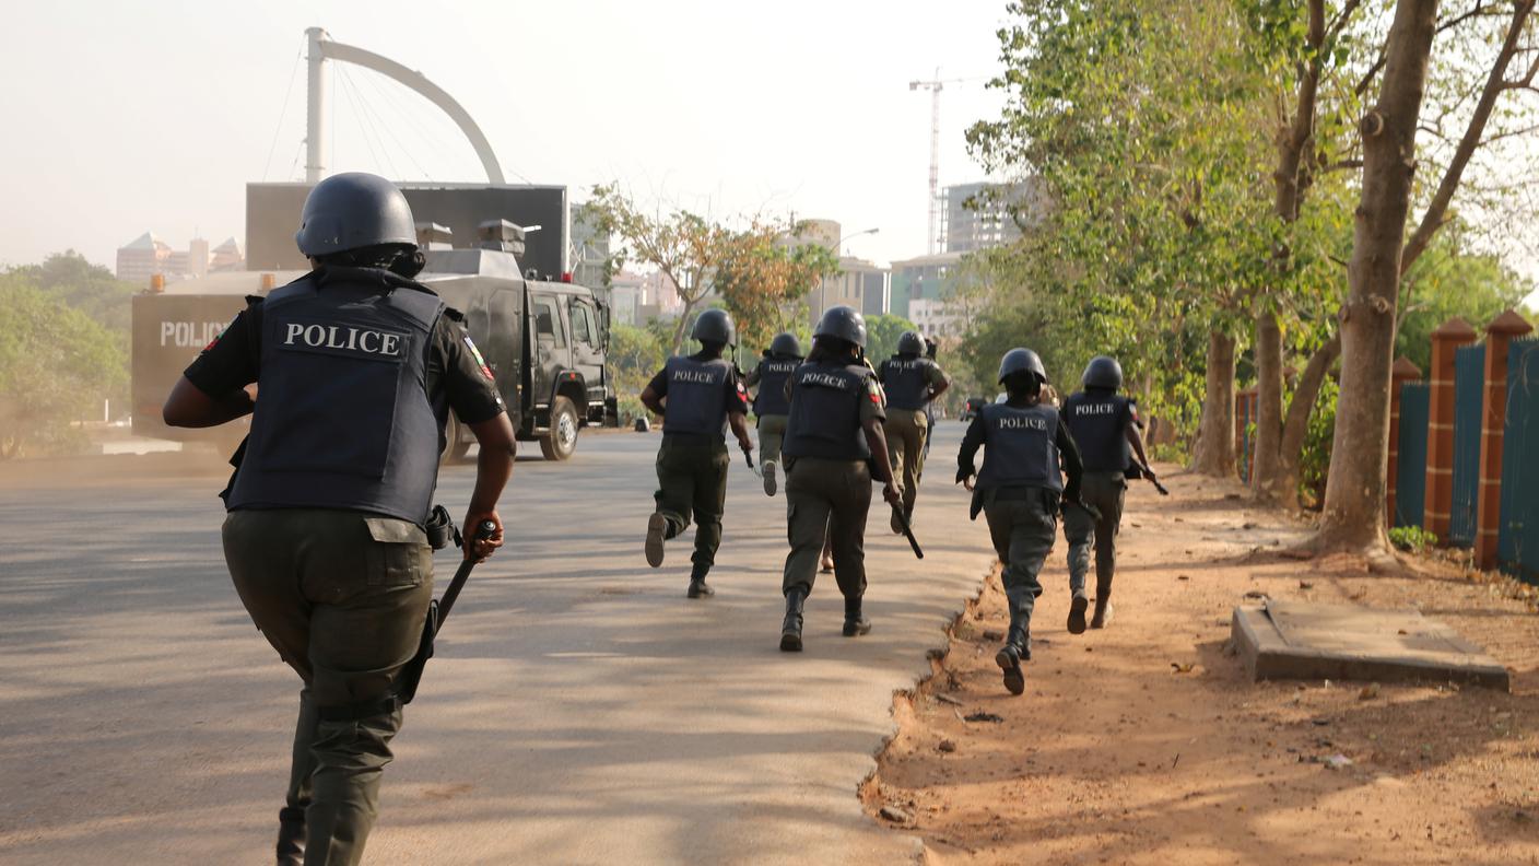
[[[448,411],[480,442],[465,556],[502,545],[512,427],[423,267],[411,208],[383,177],[336,174],[305,200],[312,271],[249,299],[188,367],[174,427],[254,413],[229,490],[225,559],[257,627],[303,680],[279,863],[359,863],[402,710],[392,686],[432,596],[428,519]],[[246,385],[255,382],[255,402]]]

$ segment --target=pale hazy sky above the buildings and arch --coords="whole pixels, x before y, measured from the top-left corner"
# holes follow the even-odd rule
[[[431,12],[429,12],[431,9]],[[997,111],[1003,0],[950,3],[12,3],[0,52],[0,263],[65,248],[112,265],[145,230],[245,240],[245,183],[303,173],[306,26],[419,69],[480,123],[509,182],[582,199],[619,180],[719,217],[837,219],[851,253],[925,251],[930,96],[942,183],[982,177],[962,140]],[[332,171],[477,182],[422,97],[329,63]],[[286,111],[285,111],[286,100]],[[280,123],[282,117],[282,123]]]

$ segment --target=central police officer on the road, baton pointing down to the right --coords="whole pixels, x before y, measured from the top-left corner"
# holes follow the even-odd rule
[[[865,317],[850,307],[823,313],[813,351],[786,384],[791,399],[785,435],[786,535],[785,621],[780,649],[802,650],[802,609],[813,592],[819,555],[828,541],[834,579],[845,596],[843,635],[871,630],[860,609],[865,595],[865,524],[871,510],[871,476],[882,498],[899,505],[886,439],[882,436],[882,388],[862,362]]]

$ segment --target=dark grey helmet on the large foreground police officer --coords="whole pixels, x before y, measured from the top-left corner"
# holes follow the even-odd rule
[[[406,196],[394,183],[377,174],[348,171],[309,191],[294,240],[306,256],[383,243],[416,247],[417,225]]]

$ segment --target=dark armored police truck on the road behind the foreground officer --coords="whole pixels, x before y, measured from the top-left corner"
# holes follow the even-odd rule
[[[605,364],[609,317],[589,288],[520,273],[517,227],[494,220],[480,228],[474,248],[423,243],[428,267],[417,279],[465,314],[519,438],[539,441],[546,459],[565,461],[577,448],[579,428],[619,422],[614,379]],[[440,239],[445,234],[442,227],[425,231]],[[303,271],[211,274],[135,296],[134,433],[239,444],[246,419],[211,430],[171,428],[160,419],[160,405],[186,365],[245,308],[245,296],[266,294],[300,276]],[[446,441],[445,461],[465,456],[474,442],[452,413]]]

